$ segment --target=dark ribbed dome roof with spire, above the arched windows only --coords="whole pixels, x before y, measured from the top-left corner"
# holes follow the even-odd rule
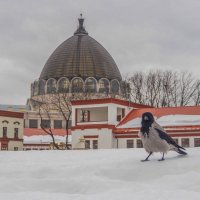
[[[72,37],[59,45],[47,60],[40,80],[61,77],[94,77],[121,81],[119,69],[108,51],[88,35],[83,27],[83,18]]]

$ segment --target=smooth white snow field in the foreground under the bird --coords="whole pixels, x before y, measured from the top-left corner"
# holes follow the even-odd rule
[[[200,148],[0,152],[0,200],[199,200]]]

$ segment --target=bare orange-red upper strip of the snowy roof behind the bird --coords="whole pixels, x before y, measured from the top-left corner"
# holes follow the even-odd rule
[[[156,117],[165,115],[200,115],[200,106],[133,109],[118,125],[142,117],[144,112],[151,112]]]

